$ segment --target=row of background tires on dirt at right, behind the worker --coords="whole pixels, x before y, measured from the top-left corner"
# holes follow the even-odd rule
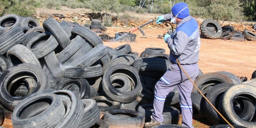
[[[256,34],[244,30],[243,32],[235,31],[232,26],[226,25],[221,27],[218,22],[211,19],[206,19],[200,25],[201,34],[208,39],[230,39],[234,41],[251,40],[256,41]],[[246,39],[244,39],[246,38]]]

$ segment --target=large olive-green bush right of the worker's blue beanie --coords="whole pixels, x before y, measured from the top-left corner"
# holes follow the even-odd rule
[[[240,0],[189,0],[187,3],[194,17],[230,21],[243,19]]]

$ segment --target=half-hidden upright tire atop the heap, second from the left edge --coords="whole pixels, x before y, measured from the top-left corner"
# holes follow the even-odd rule
[[[21,20],[20,27],[31,29],[33,27],[40,27],[40,24],[33,17],[25,17]]]

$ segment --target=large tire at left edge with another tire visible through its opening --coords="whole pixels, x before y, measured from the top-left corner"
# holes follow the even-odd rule
[[[29,92],[24,97],[14,97],[10,95],[10,90],[15,89],[15,87],[12,87],[12,85],[8,82],[10,80],[19,80],[23,78],[33,78],[37,81],[36,85],[29,85]],[[48,80],[45,72],[38,66],[33,64],[19,64],[14,67],[9,68],[6,72],[4,72],[1,75],[0,80],[1,82],[1,94],[0,94],[0,101],[2,105],[10,110],[13,111],[15,106],[19,104],[23,99],[25,99],[27,96],[36,93],[38,91],[42,91],[49,88]],[[14,81],[14,82],[15,82]],[[7,90],[8,89],[8,90]]]

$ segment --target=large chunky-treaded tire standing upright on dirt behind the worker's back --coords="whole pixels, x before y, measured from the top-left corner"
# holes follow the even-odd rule
[[[209,32],[209,30],[207,29],[207,25],[214,26],[214,28],[216,29],[216,33]],[[202,35],[204,35],[204,37],[209,39],[217,39],[221,36],[221,33],[222,33],[220,24],[218,24],[218,22],[216,22],[215,20],[211,20],[211,19],[204,20],[200,25],[200,30]]]

